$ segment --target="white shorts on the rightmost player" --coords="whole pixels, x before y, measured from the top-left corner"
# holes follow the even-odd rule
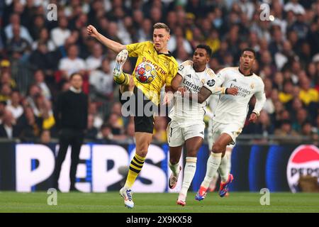
[[[233,148],[236,142],[236,138],[242,132],[242,126],[238,123],[219,123],[211,119],[208,123],[208,147],[211,149],[213,143],[218,139],[220,134],[227,133],[233,139],[227,148]]]

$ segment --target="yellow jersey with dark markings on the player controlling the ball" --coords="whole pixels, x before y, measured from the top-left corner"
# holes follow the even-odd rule
[[[159,92],[166,84],[171,86],[172,79],[177,74],[178,63],[175,58],[169,54],[158,53],[152,42],[133,43],[126,45],[129,57],[138,57],[134,71],[141,62],[150,62],[154,65],[157,72],[155,79],[149,84],[143,84],[138,81],[134,76],[135,86],[140,89],[148,99],[155,104],[159,104]]]

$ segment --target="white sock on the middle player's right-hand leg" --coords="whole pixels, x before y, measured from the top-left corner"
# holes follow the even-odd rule
[[[189,186],[191,186],[191,181],[194,178],[196,172],[196,162],[197,157],[186,157],[186,164],[184,167],[184,179],[181,186],[181,194],[186,196],[187,191],[189,191]]]

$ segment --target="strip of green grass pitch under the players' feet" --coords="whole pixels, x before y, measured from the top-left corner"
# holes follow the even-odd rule
[[[319,212],[317,193],[271,193],[270,205],[262,206],[262,194],[231,192],[220,198],[216,192],[208,193],[203,201],[189,193],[186,206],[176,204],[176,193],[135,193],[134,209],[124,207],[118,192],[58,193],[57,206],[47,205],[46,192],[0,192],[0,212],[106,212],[106,213],[212,213],[212,212]]]

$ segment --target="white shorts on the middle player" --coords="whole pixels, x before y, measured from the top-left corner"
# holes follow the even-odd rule
[[[205,123],[184,124],[172,120],[167,125],[167,141],[170,147],[178,147],[185,140],[199,136],[204,138]]]

